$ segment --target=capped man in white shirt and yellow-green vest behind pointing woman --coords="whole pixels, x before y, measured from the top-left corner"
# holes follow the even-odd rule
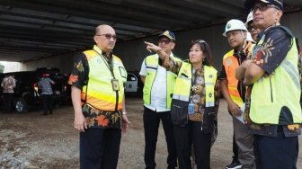
[[[172,50],[175,47],[174,33],[172,31],[164,31],[158,38],[158,46],[170,57],[173,57]],[[168,149],[168,168],[172,169],[177,166],[173,124],[170,120],[172,93],[176,75],[170,71],[166,71],[164,67],[159,65],[159,62],[160,59],[157,54],[147,56],[139,72],[141,80],[144,83],[144,160],[147,169],[155,169],[155,149],[158,127],[160,120],[162,120]]]

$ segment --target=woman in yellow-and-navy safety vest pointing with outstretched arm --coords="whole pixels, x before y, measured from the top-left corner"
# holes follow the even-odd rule
[[[205,40],[191,42],[189,60],[176,61],[153,43],[163,67],[177,74],[173,90],[171,120],[179,168],[191,168],[191,153],[197,168],[210,168],[210,147],[217,137],[219,92],[217,70],[211,66],[212,53]],[[194,151],[191,152],[191,146]]]

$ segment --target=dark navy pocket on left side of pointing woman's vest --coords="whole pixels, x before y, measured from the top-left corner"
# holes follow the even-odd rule
[[[174,125],[184,127],[188,123],[189,102],[172,100],[171,120]]]

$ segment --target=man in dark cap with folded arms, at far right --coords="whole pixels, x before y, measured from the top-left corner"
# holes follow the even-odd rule
[[[252,60],[241,66],[246,96],[245,123],[254,135],[257,168],[297,168],[299,104],[298,47],[293,34],[280,26],[281,0],[246,0],[253,23],[261,30]]]

